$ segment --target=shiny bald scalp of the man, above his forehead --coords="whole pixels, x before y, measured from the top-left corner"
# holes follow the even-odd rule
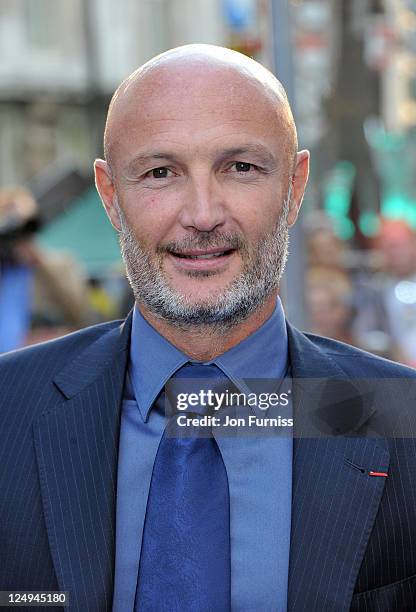
[[[246,98],[262,105],[270,124],[278,124],[288,160],[297,152],[293,115],[282,84],[253,59],[214,45],[185,45],[157,55],[133,72],[118,87],[108,110],[104,154],[114,168],[123,141],[129,139],[137,119],[146,119],[149,108],[165,107],[170,98],[188,101],[192,91],[200,98],[220,93],[215,112]],[[184,108],[183,105],[179,105]],[[172,117],[173,118],[173,117]]]

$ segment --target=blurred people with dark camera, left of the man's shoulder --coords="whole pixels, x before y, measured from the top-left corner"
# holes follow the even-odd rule
[[[130,292],[123,272],[91,278],[76,259],[36,240],[39,210],[31,193],[0,191],[0,353],[123,316]]]

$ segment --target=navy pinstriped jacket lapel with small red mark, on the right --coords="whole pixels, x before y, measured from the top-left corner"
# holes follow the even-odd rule
[[[371,417],[368,402],[352,410],[352,423],[343,422],[340,432],[337,410],[336,424],[331,424],[325,400],[328,383],[319,379],[346,381],[347,375],[290,327],[289,346],[294,381],[314,382],[309,387],[294,384],[295,427],[299,416],[303,431],[294,439],[288,610],[347,611],[386,480],[368,472],[387,472],[389,452],[382,440],[351,437],[354,428],[360,429]],[[346,395],[354,404],[351,389]],[[305,421],[307,415],[312,415],[312,425]]]

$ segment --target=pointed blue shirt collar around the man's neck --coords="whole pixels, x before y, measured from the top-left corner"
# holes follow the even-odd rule
[[[153,402],[173,374],[191,362],[140,314],[133,311],[129,375],[142,418],[147,421]],[[283,307],[277,298],[272,316],[236,346],[206,362],[218,366],[242,391],[244,378],[281,378],[288,363],[288,339]]]

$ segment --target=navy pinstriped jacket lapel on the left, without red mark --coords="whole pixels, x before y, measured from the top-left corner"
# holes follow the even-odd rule
[[[55,379],[63,394],[34,426],[49,544],[71,609],[111,610],[120,402],[131,317]]]

